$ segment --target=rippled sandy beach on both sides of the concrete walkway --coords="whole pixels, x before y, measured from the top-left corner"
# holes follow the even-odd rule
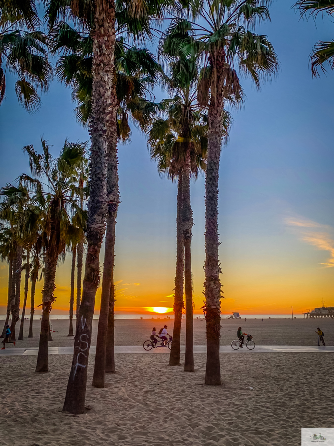
[[[168,329],[172,324],[168,320]],[[71,345],[68,321],[52,325],[58,331],[50,345]],[[116,344],[140,345],[151,325],[117,320]],[[259,345],[314,345],[312,330],[318,325],[333,345],[334,321],[242,322]],[[222,321],[223,345],[238,326],[239,321]],[[205,322],[195,320],[194,327],[195,343],[204,345]],[[92,345],[96,328],[94,321]],[[37,346],[38,336],[17,345],[28,343]],[[86,394],[90,410],[78,417],[61,412],[71,356],[49,356],[45,374],[34,372],[36,356],[0,358],[0,445],[299,446],[301,427],[334,423],[332,353],[222,354],[219,387],[203,385],[204,354],[195,355],[195,373],[169,367],[168,355],[118,354],[117,373],[107,375],[105,389],[95,389],[94,358],[91,354]]]

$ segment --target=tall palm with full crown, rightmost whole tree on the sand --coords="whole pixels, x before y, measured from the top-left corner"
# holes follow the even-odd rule
[[[218,258],[218,178],[224,136],[224,107],[242,100],[237,68],[260,87],[278,67],[273,46],[253,32],[257,22],[268,20],[270,0],[190,0],[184,9],[189,20],[173,21],[169,34],[187,30],[192,36],[180,44],[185,55],[199,54],[204,61],[198,83],[198,101],[208,107],[208,158],[205,181],[205,305],[207,361],[205,384],[220,385],[220,300]]]

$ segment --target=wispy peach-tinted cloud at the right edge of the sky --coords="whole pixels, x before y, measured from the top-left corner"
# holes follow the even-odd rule
[[[307,220],[302,217],[287,217],[285,223],[288,226],[298,228],[299,237],[304,242],[315,246],[321,251],[329,251],[330,258],[327,262],[321,263],[326,268],[334,267],[334,229],[331,226],[320,224],[312,220]],[[308,230],[306,230],[306,228]],[[317,229],[314,231],[313,229]],[[319,231],[322,229],[322,231]],[[332,234],[331,234],[332,233]]]

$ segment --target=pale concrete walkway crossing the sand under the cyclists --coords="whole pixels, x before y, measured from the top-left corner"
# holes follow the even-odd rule
[[[146,351],[143,349],[140,345],[116,345],[115,346],[115,353],[126,353],[126,354],[133,354],[133,353],[139,353],[139,354],[148,354],[148,355],[154,355],[154,354],[160,354],[160,353],[169,353],[168,348],[163,347],[157,347],[150,351]],[[184,353],[185,346],[181,346],[181,352]],[[193,348],[194,353],[206,353],[206,346],[205,345],[195,345]],[[221,353],[234,353],[234,354],[241,354],[241,353],[334,353],[334,346],[329,347],[317,347],[317,346],[310,346],[306,347],[303,345],[256,345],[254,350],[248,350],[246,347],[243,347],[242,349],[239,348],[239,350],[233,350],[230,345],[228,346],[221,346],[220,347]],[[16,348],[13,346],[10,346],[6,348],[5,350],[0,350],[0,356],[21,356],[21,355],[37,355],[38,353],[38,347],[31,347],[31,348]],[[90,353],[95,354],[96,353],[96,347],[90,348]],[[73,347],[49,347],[48,348],[48,354],[49,355],[73,355]]]

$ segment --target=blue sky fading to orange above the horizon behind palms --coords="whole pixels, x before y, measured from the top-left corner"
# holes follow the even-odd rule
[[[286,313],[291,304],[302,311],[319,306],[322,297],[325,304],[334,305],[334,270],[321,265],[329,261],[334,247],[334,73],[312,79],[309,68],[312,46],[319,39],[331,40],[334,26],[327,16],[316,23],[300,20],[291,6],[291,1],[274,1],[272,22],[259,29],[273,43],[280,71],[260,92],[243,79],[245,105],[233,111],[230,140],[222,152],[219,232],[227,313],[234,308],[244,313],[258,313],[260,308],[265,313]],[[7,97],[0,107],[1,186],[28,171],[22,147],[39,148],[40,136],[54,146],[55,155],[65,138],[89,139],[76,123],[73,108],[71,91],[54,81],[40,110],[29,115],[18,105],[8,76]],[[132,142],[119,147],[119,166],[118,304],[136,307],[146,298],[148,306],[172,306],[176,185],[159,178],[146,137],[136,129]],[[204,177],[192,184],[191,203],[194,294],[199,308],[205,256]],[[67,262],[57,275],[65,288]],[[1,273],[4,303],[6,270]],[[122,284],[130,285],[123,289]],[[64,299],[66,293],[64,289]]]

